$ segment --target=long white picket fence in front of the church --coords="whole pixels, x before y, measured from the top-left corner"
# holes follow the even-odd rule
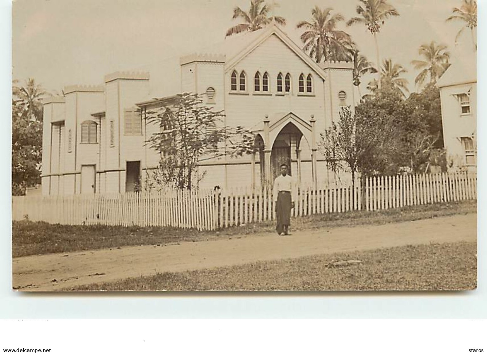
[[[381,210],[408,205],[475,200],[476,175],[421,174],[371,177],[355,187],[305,187],[295,195],[294,217]],[[160,193],[13,197],[14,221],[28,218],[60,224],[171,226],[215,230],[275,219],[270,189],[167,190]]]

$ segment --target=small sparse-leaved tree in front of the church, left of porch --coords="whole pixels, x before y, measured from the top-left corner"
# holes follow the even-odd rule
[[[224,156],[237,157],[253,151],[254,136],[243,127],[224,126],[223,111],[213,111],[195,93],[178,94],[169,107],[147,112],[148,123],[159,132],[147,144],[161,155],[158,167],[148,175],[146,188],[174,186],[190,190],[204,178],[202,161]]]

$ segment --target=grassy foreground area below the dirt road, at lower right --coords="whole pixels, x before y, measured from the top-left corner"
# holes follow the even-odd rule
[[[75,291],[471,290],[476,242],[407,245],[299,259],[261,261],[79,286]],[[361,263],[334,267],[338,260]]]

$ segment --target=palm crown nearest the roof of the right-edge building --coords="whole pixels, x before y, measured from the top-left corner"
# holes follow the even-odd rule
[[[414,82],[417,85],[422,85],[428,74],[430,75],[430,82],[436,83],[436,80],[445,72],[450,66],[448,60],[450,53],[446,51],[446,45],[436,45],[435,41],[430,44],[423,44],[419,47],[419,55],[423,56],[425,60],[412,60],[411,64],[414,69],[421,70],[416,76]]]

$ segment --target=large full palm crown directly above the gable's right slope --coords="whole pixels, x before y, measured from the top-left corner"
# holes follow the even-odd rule
[[[321,10],[315,6],[311,10],[312,20],[300,21],[297,28],[306,28],[301,35],[304,43],[303,50],[309,52],[317,63],[322,60],[346,61],[351,59],[350,48],[352,39],[344,31],[336,30],[337,23],[344,21],[341,14],[332,15],[333,8]]]

